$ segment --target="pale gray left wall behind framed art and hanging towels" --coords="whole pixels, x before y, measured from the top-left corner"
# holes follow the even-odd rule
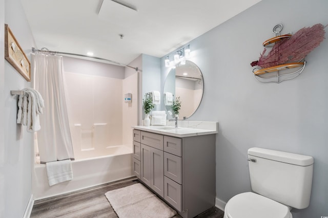
[[[3,29],[4,23],[9,25],[30,59],[29,53],[35,43],[20,1],[1,1],[0,8],[0,26]],[[0,217],[23,217],[32,194],[33,134],[27,133],[26,126],[16,124],[17,96],[11,96],[10,90],[24,89],[31,86],[31,82],[4,60],[3,30],[0,34],[0,112],[3,116],[0,127]]]

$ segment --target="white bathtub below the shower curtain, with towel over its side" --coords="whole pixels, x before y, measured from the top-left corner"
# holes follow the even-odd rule
[[[111,146],[108,147],[105,156],[74,160],[72,170],[73,180],[50,187],[46,164],[34,164],[32,173],[34,200],[133,177],[132,146]]]

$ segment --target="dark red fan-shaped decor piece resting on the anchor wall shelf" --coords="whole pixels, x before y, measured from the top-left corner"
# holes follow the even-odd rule
[[[268,55],[265,55],[267,49],[264,48],[259,60],[253,61],[251,66],[270,68],[288,62],[301,61],[323,41],[325,27],[322,24],[304,27],[290,38],[277,41]]]

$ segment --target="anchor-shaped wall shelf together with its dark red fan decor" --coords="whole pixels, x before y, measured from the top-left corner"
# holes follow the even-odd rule
[[[259,60],[251,63],[252,67],[259,66],[262,68],[253,70],[255,79],[260,82],[279,83],[300,75],[305,68],[305,56],[323,41],[324,28],[325,26],[322,24],[316,24],[312,27],[304,27],[294,35],[291,33],[280,35],[282,25],[276,25],[272,30],[275,37],[263,42],[265,48]],[[272,47],[272,49],[265,55],[267,47]],[[286,69],[293,70],[279,74],[279,71]]]

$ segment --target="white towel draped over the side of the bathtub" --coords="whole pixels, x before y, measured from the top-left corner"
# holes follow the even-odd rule
[[[49,186],[73,179],[71,160],[46,163]]]

